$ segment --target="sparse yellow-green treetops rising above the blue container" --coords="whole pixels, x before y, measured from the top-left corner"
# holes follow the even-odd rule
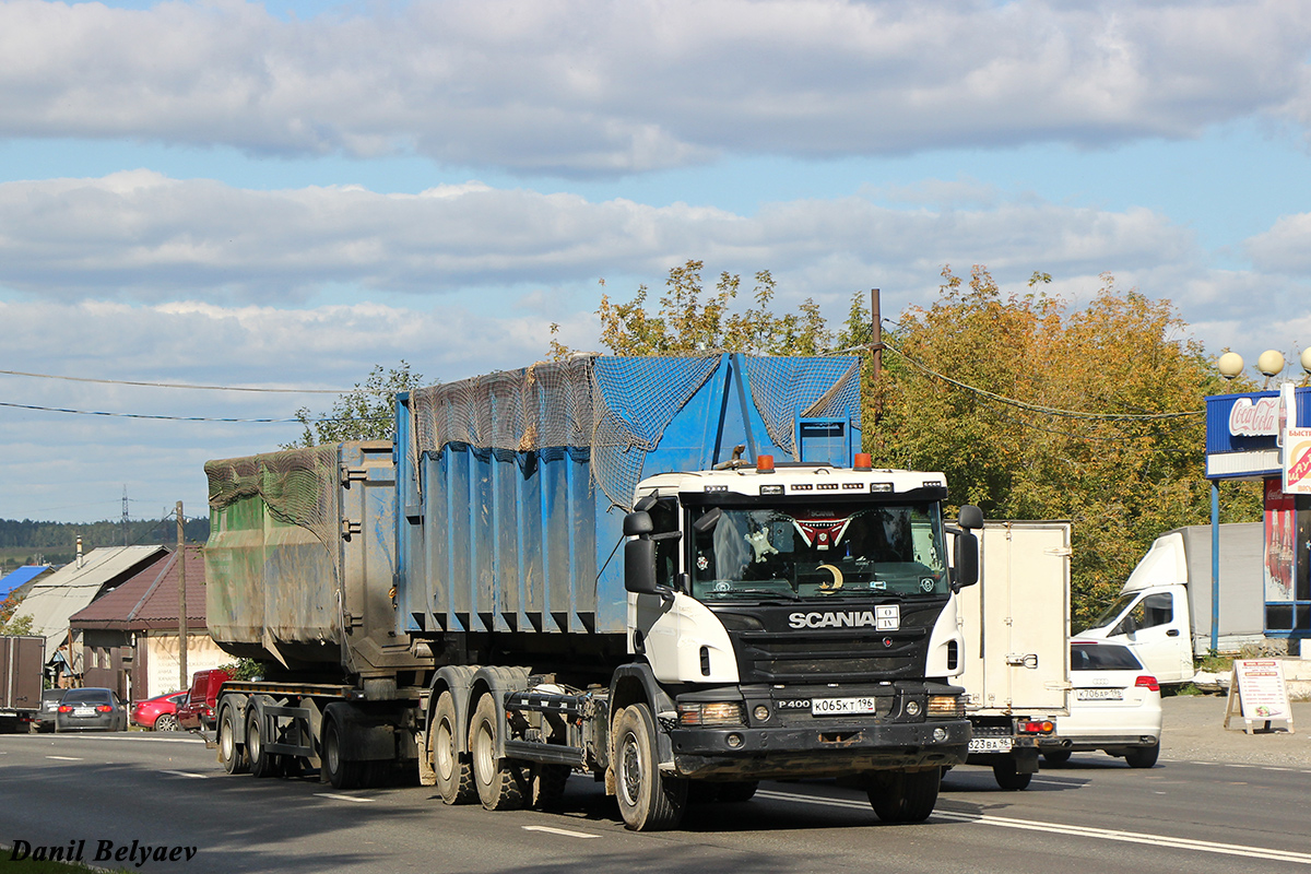
[[[688,355],[704,351],[753,355],[817,355],[832,343],[819,307],[806,299],[794,313],[777,316],[770,303],[777,283],[768,270],[755,274],[754,305],[733,312],[742,287],[737,274],[721,273],[713,291],[701,280],[704,263],[687,261],[665,280],[659,309],[648,312],[646,286],[627,304],[600,296],[600,342],[615,355]],[[602,280],[604,286],[604,280]],[[558,325],[552,325],[552,335]],[[573,350],[551,341],[551,356],[561,360]]]

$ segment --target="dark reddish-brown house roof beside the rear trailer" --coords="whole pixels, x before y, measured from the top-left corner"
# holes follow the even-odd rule
[[[193,632],[205,632],[205,557],[201,546],[185,546],[186,618]],[[71,617],[77,629],[144,632],[177,629],[177,552],[140,569],[118,588],[97,598]]]

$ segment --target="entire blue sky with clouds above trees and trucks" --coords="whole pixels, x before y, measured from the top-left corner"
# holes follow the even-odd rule
[[[830,322],[1110,274],[1299,379],[1308,149],[1299,0],[0,0],[0,518],[205,515],[374,366],[600,349],[690,258]]]

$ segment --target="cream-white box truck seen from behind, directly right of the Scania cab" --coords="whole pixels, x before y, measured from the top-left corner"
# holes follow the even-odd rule
[[[1038,742],[1068,713],[1070,523],[987,522],[979,536],[983,586],[957,592],[965,638],[970,764],[992,765],[1003,789],[1038,770]]]

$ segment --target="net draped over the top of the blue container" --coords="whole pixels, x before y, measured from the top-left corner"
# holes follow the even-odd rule
[[[594,485],[631,510],[646,453],[728,358],[578,356],[416,389],[410,463],[417,469],[422,455],[452,443],[506,452],[585,449]],[[797,418],[857,410],[860,359],[733,358],[770,439],[793,459]]]

